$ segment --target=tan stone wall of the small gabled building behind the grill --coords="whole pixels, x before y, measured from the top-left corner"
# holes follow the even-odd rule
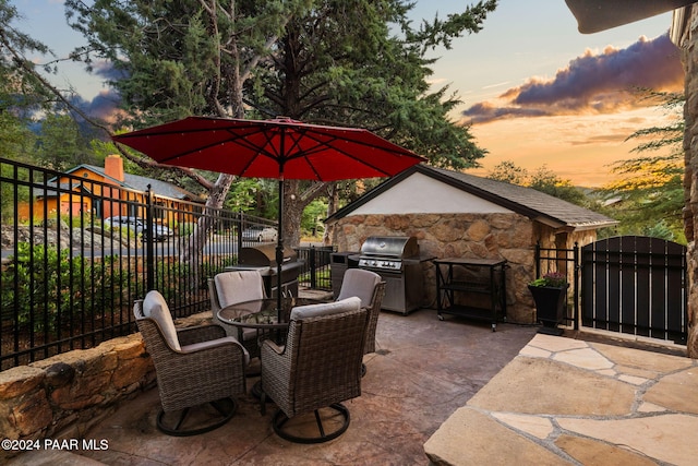
[[[528,324],[535,319],[527,288],[534,274],[533,225],[514,213],[351,215],[337,220],[333,243],[338,251],[359,251],[370,236],[414,236],[423,255],[506,259],[507,319]],[[424,264],[424,291],[422,304],[435,309],[436,279],[431,262]]]

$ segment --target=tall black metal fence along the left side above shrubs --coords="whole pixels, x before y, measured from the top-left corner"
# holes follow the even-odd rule
[[[134,332],[132,303],[148,289],[176,318],[209,309],[206,279],[252,242],[241,232],[275,225],[125,189],[91,168],[0,158],[0,370]],[[208,235],[196,235],[200,222]]]

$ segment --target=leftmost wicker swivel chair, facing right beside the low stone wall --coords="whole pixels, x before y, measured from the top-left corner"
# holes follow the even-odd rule
[[[244,369],[250,357],[242,345],[218,325],[177,330],[165,298],[155,290],[135,301],[133,313],[155,363],[163,405],[158,429],[183,437],[228,422],[238,408],[234,396],[246,392]],[[215,408],[213,420],[212,416],[202,420],[202,414],[210,411],[207,404]],[[194,420],[189,427],[190,408],[197,406],[204,409],[189,416]]]

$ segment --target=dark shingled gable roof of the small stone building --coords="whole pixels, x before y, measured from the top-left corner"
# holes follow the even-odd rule
[[[459,171],[452,171],[421,164],[416,165],[414,167],[411,167],[378,184],[366,194],[329,216],[327,222],[337,220],[349,215],[361,205],[380,196],[414,174],[425,175],[434,180],[441,181],[453,188],[457,188],[469,194],[476,195],[554,228],[586,230],[617,224],[616,220],[606,217],[605,215],[601,215],[597,212],[571,204],[543,192],[535,191],[531,188],[525,188],[503,181],[495,181],[488,178],[477,177],[474,175],[461,174]]]

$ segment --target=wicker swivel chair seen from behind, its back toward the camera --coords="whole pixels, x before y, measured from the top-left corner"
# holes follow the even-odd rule
[[[349,410],[341,402],[361,395],[366,321],[368,311],[357,297],[299,306],[291,311],[286,346],[264,340],[262,414],[268,395],[279,408],[272,420],[279,437],[291,442],[321,443],[348,429]],[[293,432],[310,413],[314,413],[318,434]],[[334,422],[336,413],[341,425],[326,433],[323,416],[325,422]]]

